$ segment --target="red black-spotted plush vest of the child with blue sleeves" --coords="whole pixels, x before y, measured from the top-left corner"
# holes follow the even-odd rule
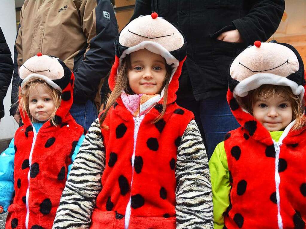
[[[17,129],[14,138],[14,180],[20,182],[14,184],[16,194],[8,209],[6,228],[52,227],[71,156],[84,133],[83,127],[69,113],[73,103],[74,76],[69,71],[69,75],[62,76],[66,77],[69,81],[56,112],[58,126],[47,121],[36,135],[27,113],[20,110],[23,125]]]

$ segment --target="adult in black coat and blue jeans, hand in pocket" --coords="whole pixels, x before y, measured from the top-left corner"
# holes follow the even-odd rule
[[[230,61],[256,40],[267,41],[284,9],[284,0],[136,0],[131,20],[155,11],[186,37],[177,104],[203,126],[209,158],[224,134],[239,126],[226,102]]]

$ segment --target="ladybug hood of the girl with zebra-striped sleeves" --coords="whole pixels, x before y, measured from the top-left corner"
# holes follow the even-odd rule
[[[178,78],[186,59],[186,40],[183,33],[157,13],[140,16],[127,24],[115,40],[115,63],[111,69],[109,86],[113,90],[123,58],[140,49],[161,55],[171,65],[172,73],[168,88],[167,103],[176,100]],[[164,90],[162,90],[161,98]],[[161,100],[159,101],[162,102]]]

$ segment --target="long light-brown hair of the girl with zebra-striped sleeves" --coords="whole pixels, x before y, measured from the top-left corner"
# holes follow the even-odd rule
[[[99,119],[100,126],[103,129],[108,129],[109,128],[108,126],[103,125],[103,122],[104,122],[104,120],[106,118],[106,115],[107,115],[108,111],[116,103],[116,100],[119,98],[121,93],[123,91],[125,91],[127,94],[135,94],[132,91],[132,89],[131,89],[131,87],[129,85],[129,80],[128,80],[128,71],[129,71],[129,69],[131,69],[131,62],[130,62],[130,56],[127,55],[122,60],[121,67],[119,69],[119,72],[118,72],[118,75],[117,75],[117,78],[116,78],[116,85],[115,85],[113,91],[110,93],[110,96],[108,97],[107,103],[106,103],[106,106],[105,106],[105,111],[104,111],[103,115],[101,115],[101,117]],[[160,112],[159,116],[157,118],[155,118],[153,123],[158,122],[163,117],[163,115],[166,112],[167,97],[168,97],[168,87],[169,87],[170,76],[171,76],[171,66],[166,64],[166,76],[165,76],[165,80],[164,80],[163,85],[162,85],[162,89],[165,88],[164,96],[163,96],[162,111]]]

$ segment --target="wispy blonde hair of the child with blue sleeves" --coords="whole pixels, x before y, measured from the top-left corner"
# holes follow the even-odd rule
[[[43,86],[46,89],[49,90],[50,96],[52,97],[52,100],[54,101],[55,109],[52,112],[52,115],[48,120],[54,125],[57,126],[58,123],[55,120],[55,113],[58,109],[58,107],[61,105],[61,100],[62,100],[62,93],[53,87],[51,87],[49,84],[47,84],[45,81],[43,81],[40,78],[30,78],[21,88],[19,92],[19,105],[18,105],[18,111],[22,111],[23,114],[26,112],[31,119],[32,122],[37,122],[35,118],[32,117],[29,109],[29,96],[30,93],[36,89],[37,86]]]

